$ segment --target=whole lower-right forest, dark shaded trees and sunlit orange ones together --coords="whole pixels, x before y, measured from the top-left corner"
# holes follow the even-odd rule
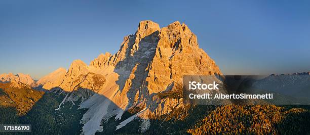
[[[307,105],[198,105],[175,109],[163,116],[150,116],[146,134],[307,134],[310,111]],[[114,121],[113,118],[107,123]],[[113,127],[112,125],[106,125]],[[116,133],[139,133],[133,120]],[[107,133],[105,130],[102,133]],[[115,129],[110,129],[115,130]]]

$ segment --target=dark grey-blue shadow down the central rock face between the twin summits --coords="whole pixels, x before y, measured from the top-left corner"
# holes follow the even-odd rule
[[[126,49],[126,57],[124,60],[118,62],[115,65],[114,72],[118,73],[119,79],[116,81],[118,85],[120,85],[120,91],[124,91],[124,89],[128,89],[127,98],[129,99],[129,105],[135,102],[135,96],[139,93],[139,97],[141,94],[147,94],[147,89],[139,89],[142,85],[143,81],[146,79],[148,74],[147,66],[152,61],[155,50],[157,47],[158,39],[157,36],[159,31],[155,31],[144,38],[142,38],[138,44],[135,44],[136,35],[130,35],[129,47]],[[120,51],[124,48],[125,44],[122,45]],[[133,50],[133,48],[138,47],[137,50]],[[135,51],[132,54],[132,51]],[[124,68],[125,67],[125,68]],[[134,72],[132,73],[132,71]],[[130,74],[134,74],[133,78],[130,78]],[[129,87],[125,87],[126,80],[130,79],[131,83],[129,83]],[[146,82],[147,83],[147,82]],[[139,91],[139,92],[138,92]]]

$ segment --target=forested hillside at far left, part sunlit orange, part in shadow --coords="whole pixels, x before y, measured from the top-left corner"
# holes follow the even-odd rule
[[[32,132],[25,132],[25,134],[81,133],[80,120],[85,110],[65,103],[61,110],[55,111],[63,96],[44,94],[27,87],[10,87],[9,83],[0,83],[0,85],[1,124],[31,124]]]

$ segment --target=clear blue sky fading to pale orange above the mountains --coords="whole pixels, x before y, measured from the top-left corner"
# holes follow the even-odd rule
[[[225,75],[310,71],[310,1],[1,1],[0,73],[116,53],[141,20],[185,23]]]

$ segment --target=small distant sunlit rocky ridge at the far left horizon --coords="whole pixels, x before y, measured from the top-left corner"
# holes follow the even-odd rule
[[[23,73],[18,73],[14,75],[13,73],[4,73],[0,75],[0,81],[1,82],[21,82],[24,84],[27,84],[29,86],[36,86],[36,82],[30,77],[29,74],[23,74]],[[14,82],[14,83],[15,83]]]

